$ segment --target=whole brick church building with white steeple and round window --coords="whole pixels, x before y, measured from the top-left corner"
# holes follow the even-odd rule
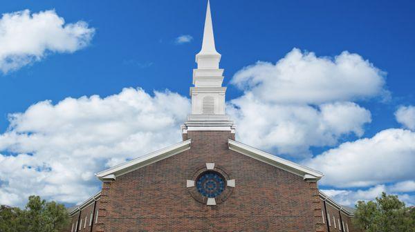
[[[322,173],[235,140],[220,61],[208,3],[183,142],[96,173],[67,231],[356,231]]]

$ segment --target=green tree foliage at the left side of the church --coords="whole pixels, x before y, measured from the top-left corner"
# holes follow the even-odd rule
[[[26,209],[0,207],[1,232],[60,232],[67,228],[68,213],[63,204],[30,196]]]

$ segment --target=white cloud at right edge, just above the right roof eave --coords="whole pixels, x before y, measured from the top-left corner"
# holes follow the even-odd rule
[[[371,138],[345,142],[304,164],[322,171],[321,183],[329,186],[363,187],[415,180],[415,133],[387,129]]]

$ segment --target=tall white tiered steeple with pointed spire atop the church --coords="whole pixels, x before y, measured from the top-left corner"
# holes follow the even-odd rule
[[[205,30],[202,49],[196,55],[197,68],[193,70],[193,84],[190,88],[192,113],[182,126],[187,131],[231,131],[234,124],[225,114],[226,87],[222,87],[223,69],[219,68],[221,54],[216,51],[210,12],[206,10]]]

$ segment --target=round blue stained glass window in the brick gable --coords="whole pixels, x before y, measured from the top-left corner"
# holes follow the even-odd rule
[[[219,173],[208,171],[196,180],[196,189],[205,197],[217,197],[225,190],[225,180]]]

